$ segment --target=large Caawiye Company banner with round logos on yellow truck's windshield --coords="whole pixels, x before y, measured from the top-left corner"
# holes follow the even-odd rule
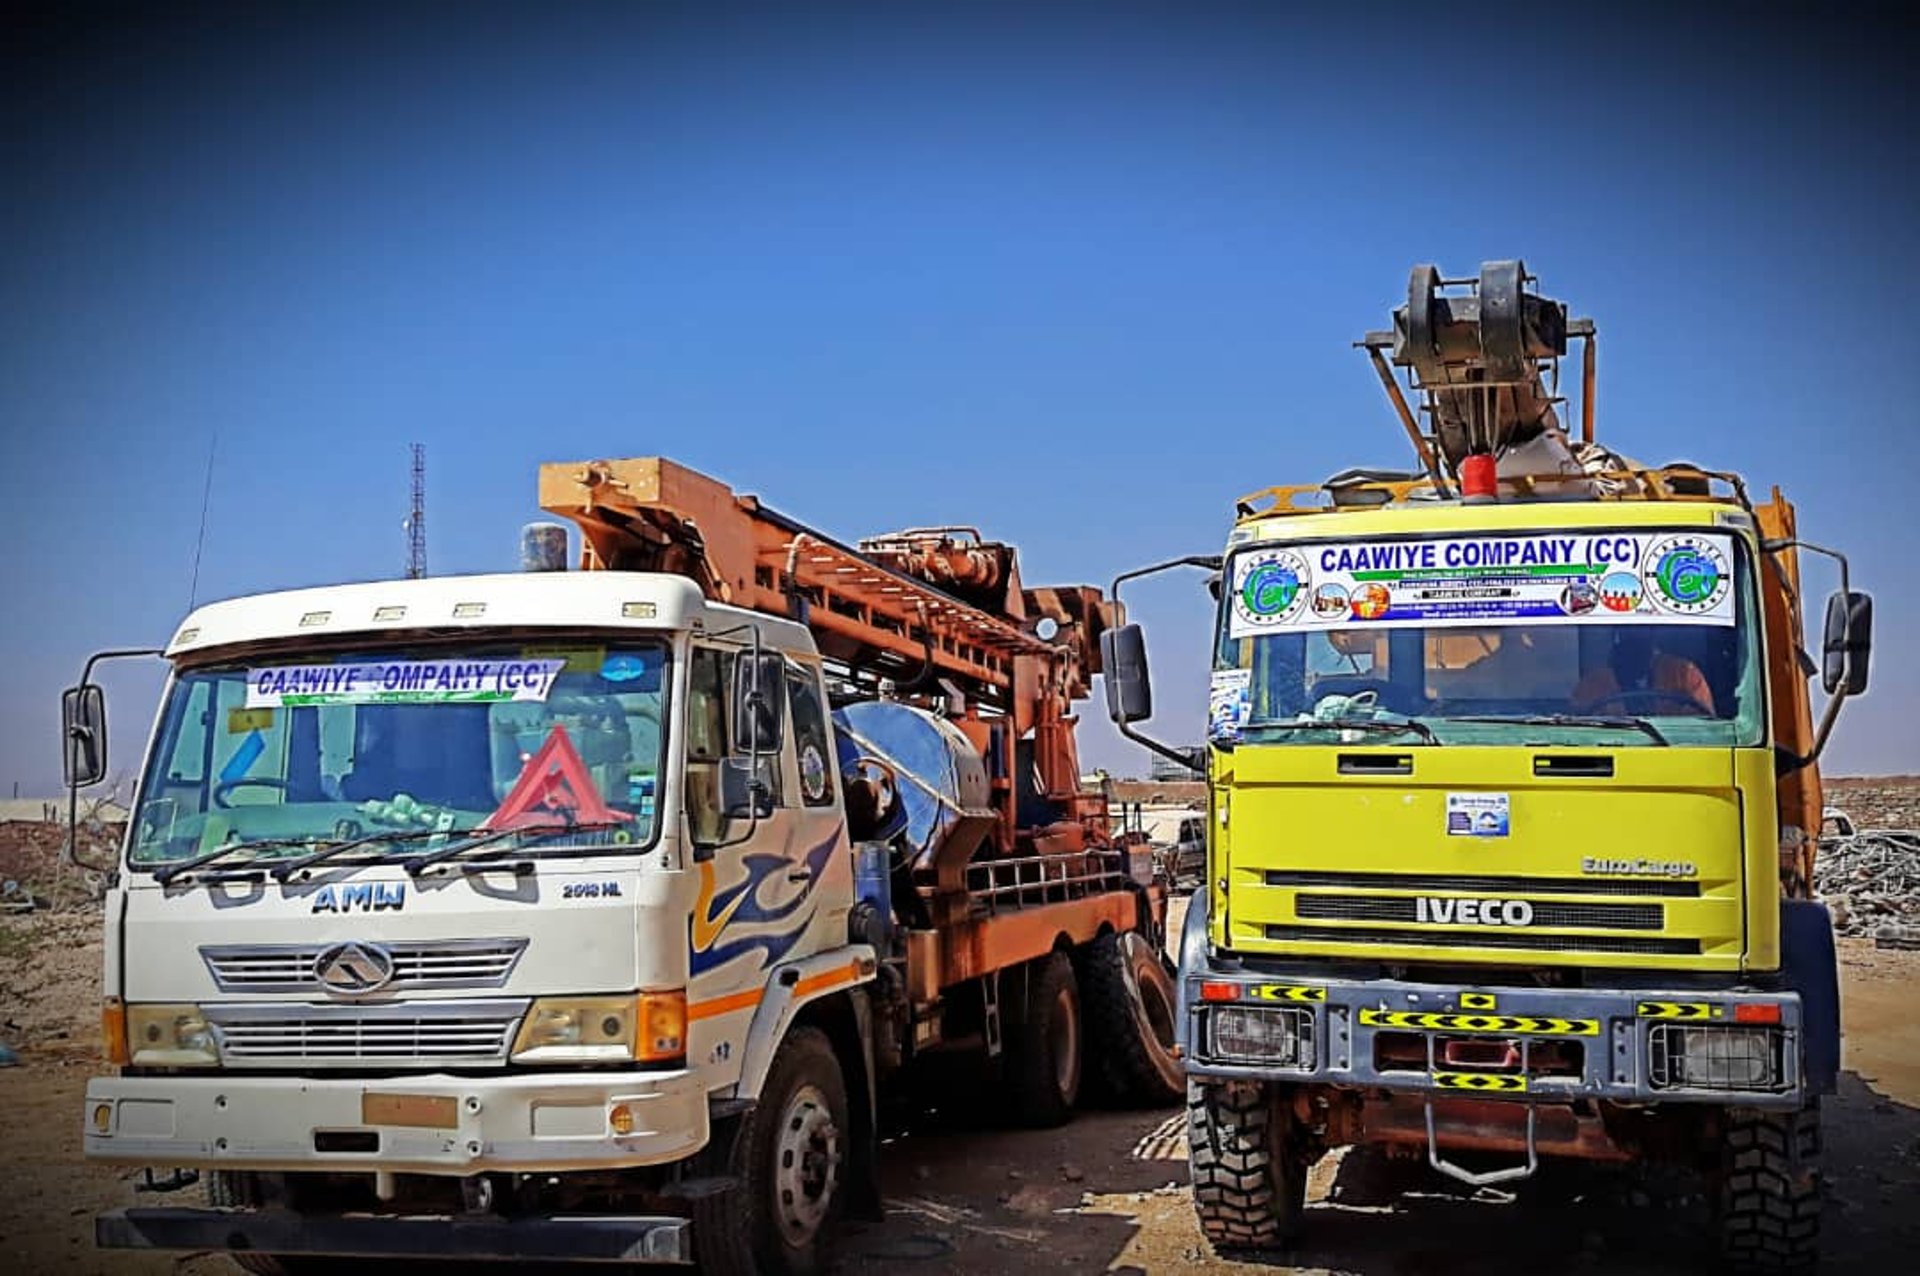
[[[1352,626],[1734,624],[1734,539],[1588,532],[1254,547],[1227,637]]]

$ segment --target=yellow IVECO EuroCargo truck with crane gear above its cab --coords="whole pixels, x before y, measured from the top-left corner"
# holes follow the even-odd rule
[[[1661,1161],[1709,1176],[1730,1266],[1807,1268],[1839,1069],[1814,760],[1872,601],[1778,489],[1601,447],[1594,324],[1517,261],[1417,267],[1359,345],[1419,470],[1256,493],[1175,560],[1217,597],[1204,758],[1137,731],[1140,629],[1104,637],[1116,723],[1210,789],[1177,1007],[1202,1230],[1288,1243],[1350,1144],[1469,1184]],[[1839,564],[1818,662],[1803,551]]]

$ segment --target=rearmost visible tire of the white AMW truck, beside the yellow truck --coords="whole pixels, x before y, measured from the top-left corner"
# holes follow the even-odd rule
[[[1173,1057],[1173,979],[1137,931],[1087,946],[1087,1042],[1100,1092],[1117,1103],[1171,1107],[1187,1094]]]

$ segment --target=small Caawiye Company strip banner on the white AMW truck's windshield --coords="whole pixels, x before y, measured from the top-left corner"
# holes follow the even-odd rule
[[[380,660],[246,672],[246,706],[545,700],[566,660]]]

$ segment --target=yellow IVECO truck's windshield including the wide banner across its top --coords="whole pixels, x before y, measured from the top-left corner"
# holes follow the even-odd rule
[[[1578,532],[1242,549],[1208,731],[1327,744],[1757,744],[1743,541]]]

